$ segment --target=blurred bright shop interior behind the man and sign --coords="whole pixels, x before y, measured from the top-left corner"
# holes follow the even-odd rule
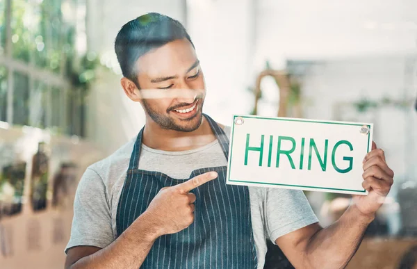
[[[347,268],[406,268],[417,244],[413,0],[0,0],[0,268],[63,268],[81,174],[145,123],[113,42],[148,12],[188,29],[205,113],[222,124],[234,113],[373,122],[395,183]],[[322,225],[350,202],[306,195]],[[277,247],[267,256],[265,268],[292,268]]]

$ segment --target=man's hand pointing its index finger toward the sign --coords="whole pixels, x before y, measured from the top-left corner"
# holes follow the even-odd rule
[[[156,228],[156,236],[175,234],[190,226],[194,222],[195,202],[190,190],[217,177],[217,172],[206,172],[176,186],[162,188],[145,211]]]

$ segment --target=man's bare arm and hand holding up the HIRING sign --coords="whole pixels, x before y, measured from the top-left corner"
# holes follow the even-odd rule
[[[316,223],[277,238],[275,243],[295,268],[345,268],[352,259],[389,193],[394,176],[384,152],[374,142],[363,161],[363,170],[362,185],[368,195],[355,195],[351,206],[334,224],[323,229]]]

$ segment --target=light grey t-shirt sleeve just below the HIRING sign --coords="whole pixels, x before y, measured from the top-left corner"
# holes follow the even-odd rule
[[[267,188],[265,190],[265,226],[270,241],[318,222],[302,190]]]

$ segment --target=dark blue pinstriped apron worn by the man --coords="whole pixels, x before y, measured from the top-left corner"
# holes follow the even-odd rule
[[[227,159],[227,136],[211,117],[204,117]],[[184,181],[172,179],[161,172],[138,169],[142,133],[143,129],[133,147],[117,205],[117,235],[122,234],[147,209],[161,188]],[[190,179],[209,171],[218,172],[218,179],[191,191],[197,197],[193,224],[177,234],[159,237],[140,268],[256,268],[249,190],[246,186],[226,184],[226,166],[195,170]]]

